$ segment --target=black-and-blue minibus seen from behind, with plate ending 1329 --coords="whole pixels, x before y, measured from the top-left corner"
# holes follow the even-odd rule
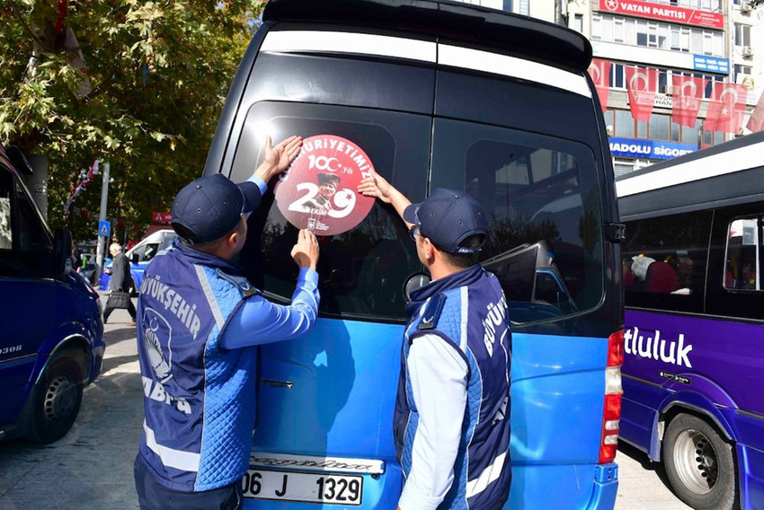
[[[615,505],[622,230],[590,61],[579,33],[475,5],[265,6],[204,172],[243,181],[266,136],[303,136],[249,219],[262,236],[241,262],[289,303],[289,249],[308,228],[322,298],[315,330],[261,348],[244,507],[395,509],[400,496],[406,291],[428,276],[395,210],[356,192],[370,168],[415,202],[464,189],[490,214],[483,261],[513,328],[506,508]]]

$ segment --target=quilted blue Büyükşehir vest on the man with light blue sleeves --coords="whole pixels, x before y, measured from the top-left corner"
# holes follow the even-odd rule
[[[146,269],[138,298],[138,357],[146,421],[139,458],[158,483],[183,492],[241,479],[249,467],[256,347],[219,345],[255,294],[226,260],[180,243]]]

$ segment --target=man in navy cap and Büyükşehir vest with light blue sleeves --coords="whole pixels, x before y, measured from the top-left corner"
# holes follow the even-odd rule
[[[301,230],[292,303],[270,303],[235,263],[247,215],[266,182],[297,157],[302,139],[271,148],[247,182],[220,174],[173,202],[178,240],[146,269],[138,298],[138,358],[146,419],[135,462],[142,509],[240,508],[255,418],[257,346],[315,324],[318,243]]]

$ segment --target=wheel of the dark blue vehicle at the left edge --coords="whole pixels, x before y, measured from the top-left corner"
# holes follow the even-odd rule
[[[75,424],[82,404],[83,370],[76,351],[62,351],[50,362],[31,395],[26,438],[32,443],[58,441]]]

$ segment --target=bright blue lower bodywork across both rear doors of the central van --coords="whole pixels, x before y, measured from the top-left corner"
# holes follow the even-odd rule
[[[365,477],[360,508],[395,507],[403,484],[392,432],[402,339],[400,325],[320,319],[304,339],[263,346],[253,449],[382,461],[378,479]],[[595,483],[607,345],[513,336],[507,508],[612,506],[617,478]],[[322,506],[257,500],[257,507]]]

